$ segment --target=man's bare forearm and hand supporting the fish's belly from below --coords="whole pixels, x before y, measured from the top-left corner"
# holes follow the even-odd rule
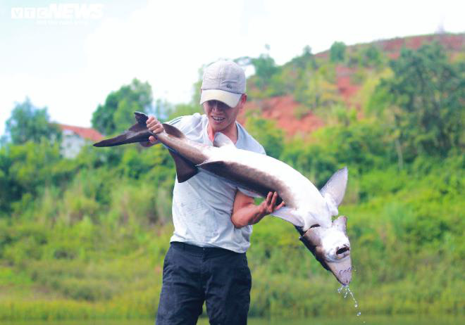
[[[249,224],[256,224],[261,218],[282,208],[285,205],[284,202],[276,205],[277,199],[278,193],[270,192],[266,196],[266,200],[263,200],[259,205],[255,205],[254,198],[237,191],[233,204],[233,214],[231,215],[234,227],[241,228]]]

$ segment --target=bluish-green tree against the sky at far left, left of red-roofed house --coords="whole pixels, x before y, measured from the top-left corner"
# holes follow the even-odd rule
[[[61,129],[50,122],[46,107],[37,108],[29,98],[17,103],[11,117],[6,121],[6,134],[13,144],[25,144],[27,141],[39,143],[42,139],[59,141]]]

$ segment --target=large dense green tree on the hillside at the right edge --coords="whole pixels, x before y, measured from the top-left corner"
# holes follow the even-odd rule
[[[399,155],[445,156],[459,146],[464,132],[463,67],[449,63],[438,44],[402,49],[390,66],[394,75],[381,80],[369,107],[390,117]]]

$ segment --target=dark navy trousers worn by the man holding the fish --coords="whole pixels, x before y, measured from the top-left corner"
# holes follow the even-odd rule
[[[210,324],[247,324],[251,286],[245,253],[171,243],[156,325],[196,324],[204,301]]]

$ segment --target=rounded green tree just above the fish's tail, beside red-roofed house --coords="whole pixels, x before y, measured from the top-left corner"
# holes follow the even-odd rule
[[[122,132],[133,122],[135,111],[151,113],[152,101],[150,84],[133,79],[106,96],[104,105],[99,105],[92,115],[92,127],[106,135]]]

